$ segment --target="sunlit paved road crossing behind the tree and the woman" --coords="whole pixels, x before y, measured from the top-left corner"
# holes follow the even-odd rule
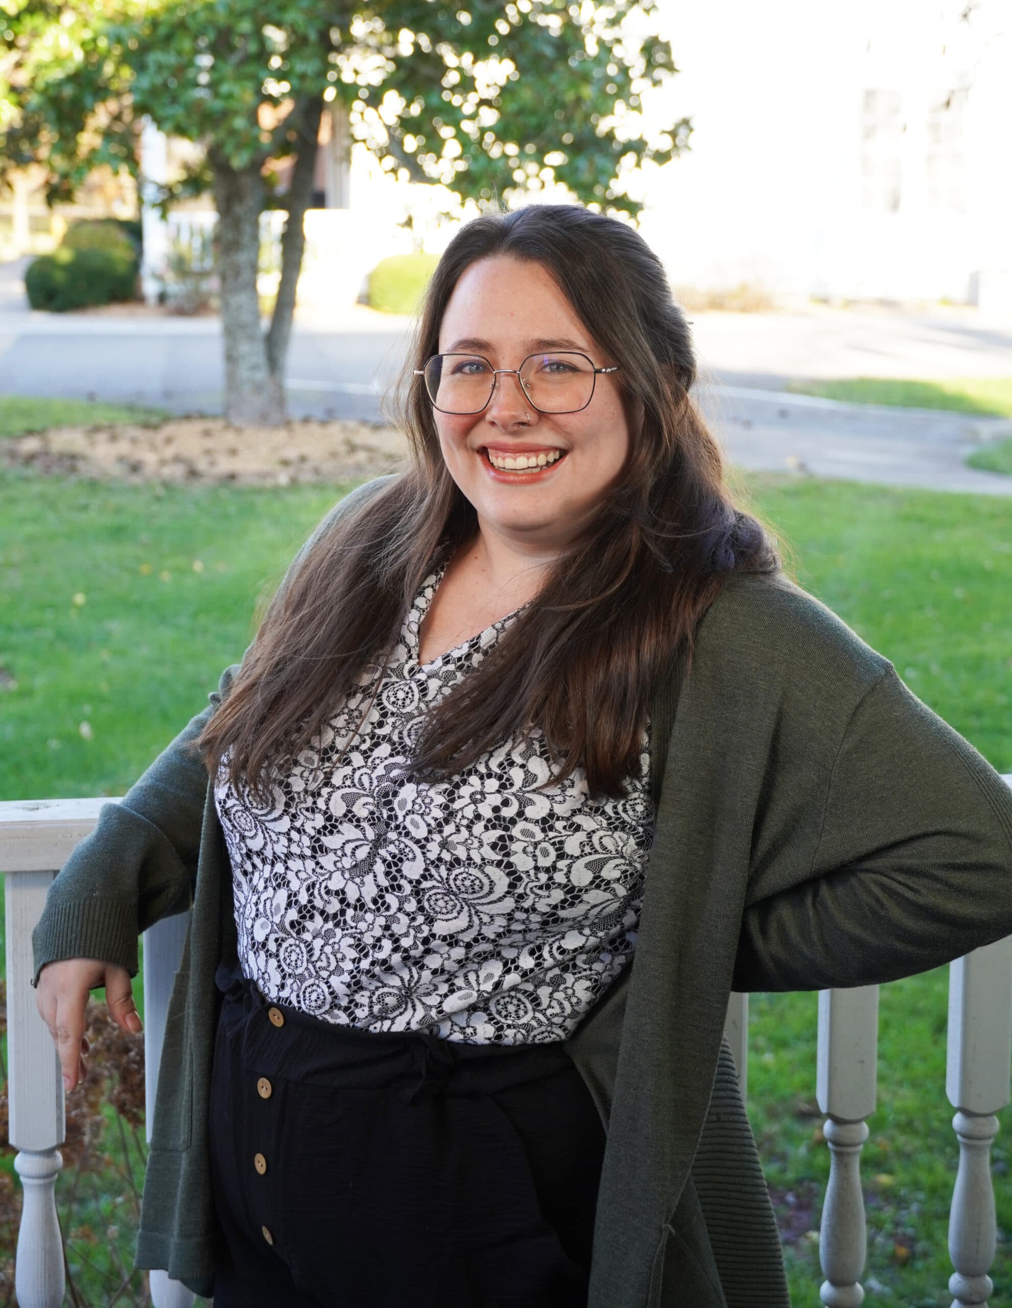
[[[24,260],[21,260],[24,266]],[[221,324],[139,311],[33,313],[21,268],[0,266],[0,396],[65,395],[221,412]],[[931,315],[834,310],[696,313],[698,399],[732,462],[747,468],[927,489],[1012,494],[1012,477],[964,464],[1012,424],[936,411],[786,394],[792,377],[1012,375],[1012,324],[973,309]],[[409,319],[353,309],[295,324],[293,416],[379,420]],[[58,362],[59,361],[59,362]],[[0,399],[0,403],[3,400]]]

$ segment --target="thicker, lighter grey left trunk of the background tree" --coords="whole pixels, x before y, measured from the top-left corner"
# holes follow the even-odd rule
[[[237,171],[212,160],[218,211],[218,276],[225,337],[225,416],[239,426],[285,421],[282,379],[267,357],[256,298],[260,211],[264,183],[259,165]]]

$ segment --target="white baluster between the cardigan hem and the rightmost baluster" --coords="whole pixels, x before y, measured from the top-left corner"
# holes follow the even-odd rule
[[[864,1118],[875,1112],[877,1054],[879,988],[820,990],[816,1099],[829,1118],[822,1131],[830,1163],[818,1230],[818,1261],[826,1279],[818,1298],[830,1308],[856,1308],[864,1300],[860,1150],[868,1138]]]

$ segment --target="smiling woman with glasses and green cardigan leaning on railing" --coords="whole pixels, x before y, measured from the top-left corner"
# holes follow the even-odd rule
[[[137,1266],[216,1308],[788,1304],[730,991],[1012,933],[1012,795],[783,576],[694,378],[625,225],[448,246],[409,471],[324,519],[35,933],[72,1088],[88,989],[139,1029],[137,934],[192,901]]]

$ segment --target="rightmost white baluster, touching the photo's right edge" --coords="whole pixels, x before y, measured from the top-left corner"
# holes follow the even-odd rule
[[[998,1228],[991,1182],[995,1116],[1009,1100],[1012,1063],[1012,937],[949,964],[945,1093],[960,1167],[949,1210],[952,1308],[981,1305],[994,1290],[988,1269]]]

